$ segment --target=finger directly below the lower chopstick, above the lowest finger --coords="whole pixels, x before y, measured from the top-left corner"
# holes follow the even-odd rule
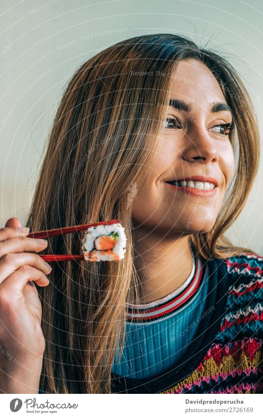
[[[45,274],[52,270],[52,267],[37,254],[9,253],[0,258],[0,283],[25,264],[38,268]]]

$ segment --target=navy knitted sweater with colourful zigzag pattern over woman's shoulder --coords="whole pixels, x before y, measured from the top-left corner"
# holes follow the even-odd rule
[[[149,378],[112,372],[112,393],[263,392],[263,257],[243,253],[204,263],[208,296],[187,351]]]

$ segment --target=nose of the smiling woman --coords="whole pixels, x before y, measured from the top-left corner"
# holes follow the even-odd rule
[[[205,127],[199,126],[186,132],[187,144],[182,157],[185,161],[201,161],[202,163],[219,160],[215,139],[211,138]]]

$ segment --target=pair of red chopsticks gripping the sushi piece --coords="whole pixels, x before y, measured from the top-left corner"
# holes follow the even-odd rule
[[[55,229],[47,229],[45,231],[37,231],[31,232],[27,235],[29,238],[49,238],[52,236],[68,234],[77,231],[83,231],[84,229],[88,229],[90,226],[98,226],[98,225],[111,225],[111,224],[119,224],[118,219],[114,219],[113,221],[103,221],[103,222],[96,222],[95,224],[84,224],[84,225],[75,225],[75,226],[65,226],[64,228],[55,228]],[[50,255],[40,255],[39,257],[43,258],[45,261],[72,261],[72,260],[84,260],[84,255],[82,254],[50,254]]]

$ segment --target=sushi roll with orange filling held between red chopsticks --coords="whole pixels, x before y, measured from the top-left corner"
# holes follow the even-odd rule
[[[119,261],[126,252],[126,235],[121,224],[90,226],[82,240],[87,261]]]

